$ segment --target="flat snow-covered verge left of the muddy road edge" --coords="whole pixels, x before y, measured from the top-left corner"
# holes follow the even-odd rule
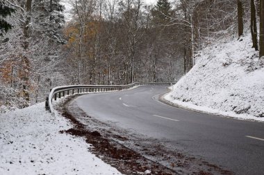
[[[0,116],[0,174],[120,174],[89,152],[83,138],[61,130],[72,125],[44,102]]]

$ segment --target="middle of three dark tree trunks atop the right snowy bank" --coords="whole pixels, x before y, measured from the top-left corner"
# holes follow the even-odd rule
[[[251,15],[250,15],[250,30],[251,30],[251,37],[252,37],[252,48],[255,48],[255,50],[258,50],[258,31],[256,28],[256,8],[255,8],[255,2],[254,0],[250,0],[250,8],[251,8]]]

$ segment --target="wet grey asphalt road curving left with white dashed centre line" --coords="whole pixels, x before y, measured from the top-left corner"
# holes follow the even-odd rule
[[[264,123],[170,107],[156,97],[165,86],[94,93],[76,99],[89,116],[164,140],[236,174],[264,174]]]

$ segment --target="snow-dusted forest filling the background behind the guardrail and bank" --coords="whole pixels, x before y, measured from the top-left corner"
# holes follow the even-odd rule
[[[65,1],[65,0],[64,0]],[[177,82],[199,51],[251,33],[264,56],[263,0],[0,0],[0,113],[68,84]]]

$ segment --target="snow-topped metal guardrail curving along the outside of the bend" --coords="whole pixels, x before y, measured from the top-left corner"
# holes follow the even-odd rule
[[[127,85],[71,85],[71,86],[58,86],[51,89],[49,97],[47,97],[45,102],[46,110],[53,113],[54,109],[52,107],[52,101],[57,100],[57,98],[65,97],[65,95],[70,95],[74,93],[89,93],[89,92],[106,92],[106,91],[122,91],[132,88],[133,86],[139,85],[169,85],[172,83],[168,82],[135,82],[133,84]]]

